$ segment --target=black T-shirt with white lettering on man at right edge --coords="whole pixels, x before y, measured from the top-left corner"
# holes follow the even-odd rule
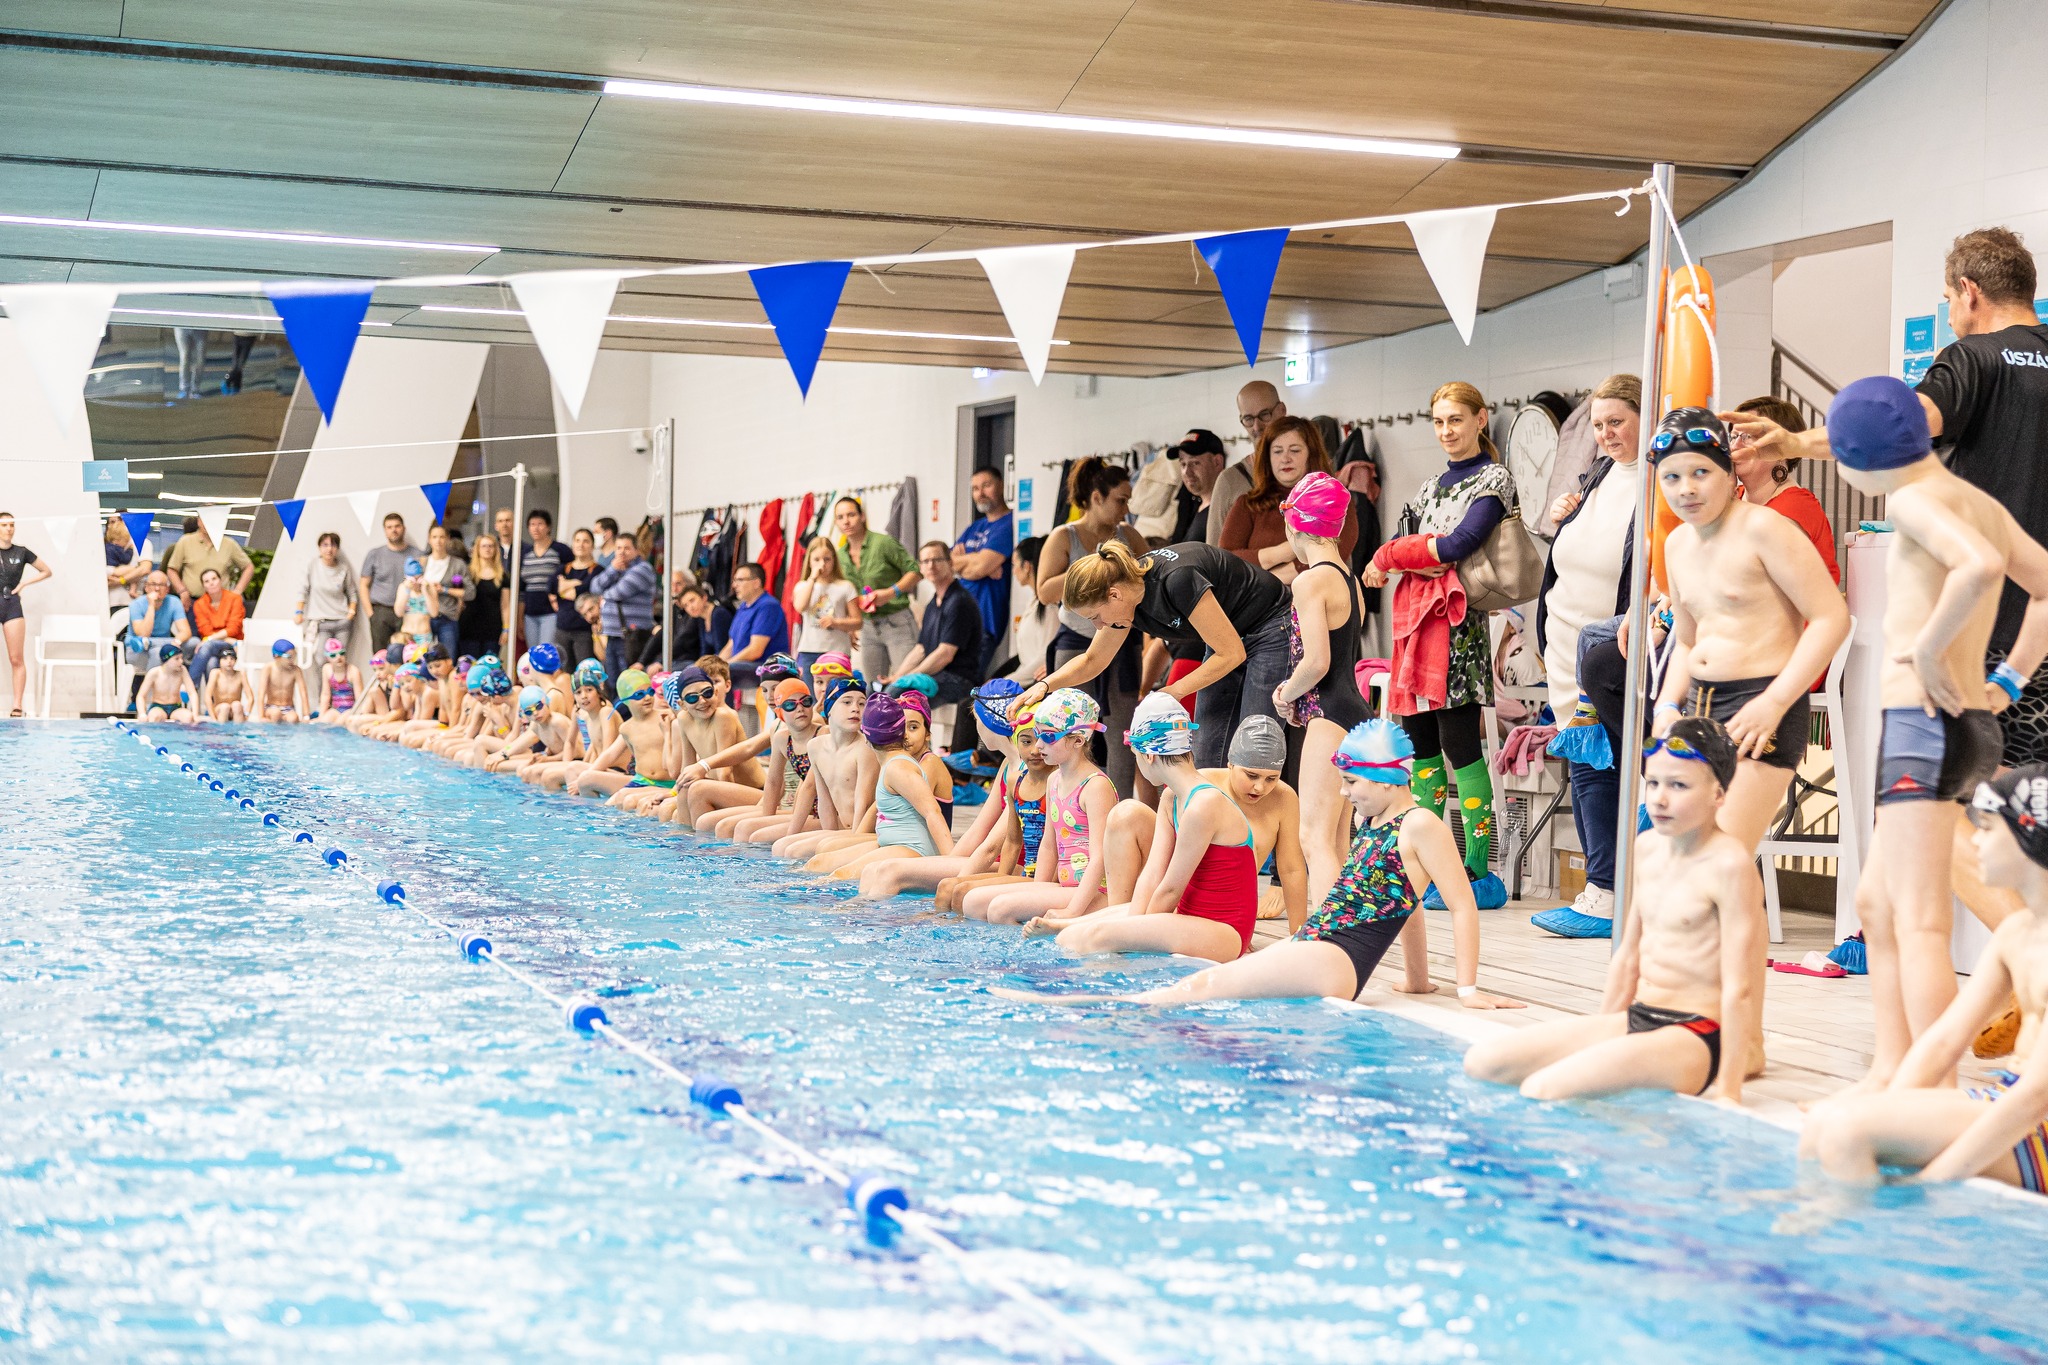
[[[2048,544],[2048,325],[2003,327],[1948,346],[1919,393],[1942,413],[1942,456]],[[2005,583],[1991,649],[2007,653],[2028,596]]]

